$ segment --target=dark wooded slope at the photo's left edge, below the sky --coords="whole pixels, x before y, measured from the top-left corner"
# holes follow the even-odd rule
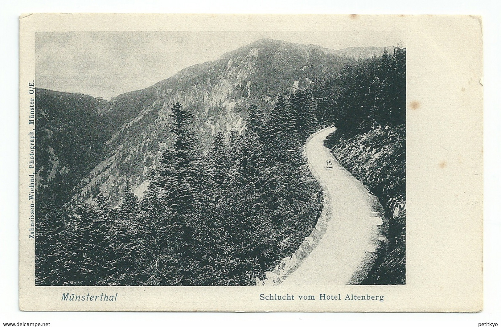
[[[73,188],[100,161],[111,136],[111,122],[100,112],[109,103],[74,93],[37,89],[37,201],[64,205]]]

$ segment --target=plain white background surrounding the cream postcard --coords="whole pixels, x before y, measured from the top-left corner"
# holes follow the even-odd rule
[[[154,1],[68,0],[4,3],[0,10],[0,326],[4,322],[51,322],[51,326],[478,326],[501,323],[501,197],[499,193],[499,30],[497,1]],[[484,33],[484,310],[480,313],[169,313],[22,312],[18,307],[18,51],[22,13],[268,13],[268,14],[467,14],[481,15]],[[432,290],[430,290],[432,291]],[[436,293],[440,297],[440,293]],[[460,301],[460,299],[457,299]]]

